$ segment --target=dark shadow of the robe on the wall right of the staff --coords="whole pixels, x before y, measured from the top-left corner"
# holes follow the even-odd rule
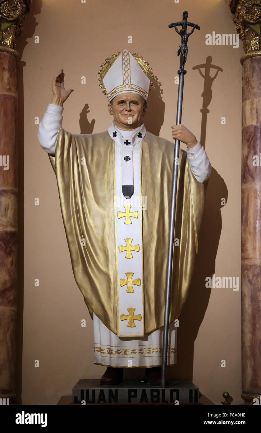
[[[222,228],[221,200],[225,198],[227,203],[227,197],[226,184],[212,167],[199,233],[197,262],[187,301],[178,318],[177,364],[168,367],[169,377],[175,379],[193,379],[194,341],[209,303],[211,288],[206,288],[206,278],[212,278],[215,274],[216,253]],[[207,356],[207,352],[206,343],[202,356]]]

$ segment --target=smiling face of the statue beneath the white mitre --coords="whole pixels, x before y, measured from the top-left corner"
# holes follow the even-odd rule
[[[126,130],[135,129],[141,125],[146,109],[146,105],[143,107],[142,97],[130,92],[115,96],[112,105],[108,104],[108,110],[114,117],[115,126]]]

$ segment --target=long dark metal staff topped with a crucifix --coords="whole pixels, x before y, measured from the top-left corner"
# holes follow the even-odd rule
[[[178,55],[180,55],[179,65],[179,82],[178,82],[178,105],[176,125],[181,124],[182,100],[184,75],[187,71],[184,69],[188,54],[188,37],[194,32],[194,29],[200,30],[197,24],[187,21],[188,12],[183,12],[182,21],[169,24],[169,28],[174,27],[176,32],[181,36],[181,45],[179,45]],[[181,26],[178,30],[176,26]],[[187,33],[187,26],[193,27],[191,32]],[[165,316],[164,316],[164,332],[163,332],[163,347],[162,347],[162,369],[161,369],[161,387],[166,385],[166,368],[167,368],[167,349],[169,339],[169,310],[170,310],[170,294],[171,294],[171,279],[172,279],[172,261],[173,261],[173,245],[174,245],[174,228],[175,228],[175,212],[176,212],[176,196],[178,184],[178,156],[179,156],[179,140],[175,139],[175,151],[173,161],[173,178],[172,178],[172,197],[171,197],[171,213],[170,213],[170,228],[169,228],[169,250],[167,263],[167,278],[166,278],[166,298],[165,298]]]

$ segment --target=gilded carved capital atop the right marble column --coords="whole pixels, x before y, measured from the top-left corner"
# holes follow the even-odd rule
[[[261,0],[231,0],[229,2],[239,38],[243,41],[245,58],[261,56]]]

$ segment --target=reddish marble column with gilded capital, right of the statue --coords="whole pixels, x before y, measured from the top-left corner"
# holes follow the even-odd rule
[[[243,41],[241,284],[242,398],[261,396],[261,1],[233,0]]]

